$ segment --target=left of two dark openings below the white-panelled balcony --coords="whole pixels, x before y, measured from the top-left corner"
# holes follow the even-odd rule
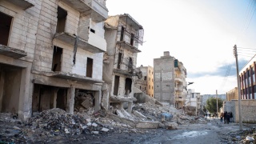
[[[62,48],[54,46],[53,62],[52,62],[52,71],[61,71],[62,70]]]

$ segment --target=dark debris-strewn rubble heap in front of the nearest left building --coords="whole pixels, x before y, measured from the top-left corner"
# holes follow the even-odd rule
[[[68,114],[66,111],[55,108],[44,110],[30,118],[26,124],[32,130],[43,129],[58,134],[95,134],[109,131],[108,127],[98,125],[89,117],[82,114]]]

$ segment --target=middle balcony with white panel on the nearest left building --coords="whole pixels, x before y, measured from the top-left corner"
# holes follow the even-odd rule
[[[88,50],[91,53],[102,53],[106,52],[106,41],[102,41],[102,38],[98,38],[99,36],[96,34],[89,34],[88,42],[82,38],[78,38],[78,47],[82,48],[83,50]],[[68,34],[66,32],[56,33],[54,38],[70,43],[74,46],[76,41],[76,36],[72,34]]]

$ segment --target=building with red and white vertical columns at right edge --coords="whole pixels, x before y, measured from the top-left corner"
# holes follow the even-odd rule
[[[239,72],[241,82],[241,99],[256,99],[256,58],[251,58]]]

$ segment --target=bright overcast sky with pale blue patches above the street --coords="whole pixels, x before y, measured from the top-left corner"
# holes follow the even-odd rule
[[[239,69],[256,54],[255,0],[106,0],[106,6],[109,15],[130,14],[143,26],[137,66],[154,66],[170,51],[194,82],[188,88],[201,94],[237,86],[235,44]]]

